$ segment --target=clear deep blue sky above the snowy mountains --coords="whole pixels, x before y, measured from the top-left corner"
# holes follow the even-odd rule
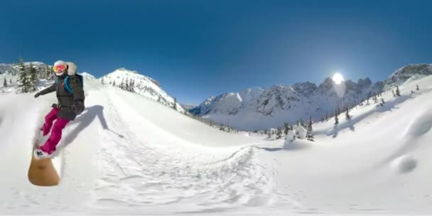
[[[431,63],[431,1],[1,1],[0,62],[63,59],[117,68],[178,101],[247,87],[384,80]]]

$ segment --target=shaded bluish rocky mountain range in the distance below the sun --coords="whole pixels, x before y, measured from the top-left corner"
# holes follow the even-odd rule
[[[190,112],[237,129],[269,129],[309,117],[321,119],[335,108],[351,108],[382,91],[383,82],[369,78],[335,85],[327,78],[320,85],[311,82],[254,87],[237,93],[210,97]]]

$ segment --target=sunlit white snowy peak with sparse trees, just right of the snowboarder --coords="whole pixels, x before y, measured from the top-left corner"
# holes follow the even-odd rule
[[[135,70],[119,68],[99,78],[100,82],[102,82],[102,80],[105,85],[115,84],[116,86],[121,85],[121,82],[127,83],[129,85],[129,82],[134,80],[134,92],[138,93],[139,95],[144,95],[145,97],[153,99],[157,102],[161,102],[168,107],[177,109],[179,112],[185,112],[181,105],[178,104],[178,102],[175,102],[173,97],[162,90],[158,81],[153,80],[151,77],[141,75]]]

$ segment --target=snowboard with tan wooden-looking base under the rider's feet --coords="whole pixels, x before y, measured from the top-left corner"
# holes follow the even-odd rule
[[[44,138],[48,138],[48,136],[43,137],[42,131],[37,129],[33,140],[30,167],[28,168],[28,181],[37,186],[55,186],[60,183],[60,175],[53,165],[53,159],[38,159],[33,155],[35,148],[44,143]]]

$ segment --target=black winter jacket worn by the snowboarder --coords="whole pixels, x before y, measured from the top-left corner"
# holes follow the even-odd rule
[[[75,120],[77,115],[72,110],[72,105],[76,100],[84,102],[84,90],[82,90],[81,80],[77,75],[68,75],[68,84],[72,89],[73,94],[65,90],[65,78],[66,75],[58,77],[58,80],[50,87],[42,90],[40,95],[46,95],[50,92],[55,92],[58,99],[58,107],[60,107],[57,117],[62,119],[68,119],[70,121]]]

